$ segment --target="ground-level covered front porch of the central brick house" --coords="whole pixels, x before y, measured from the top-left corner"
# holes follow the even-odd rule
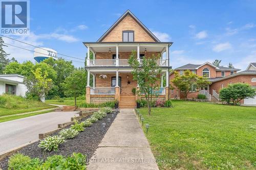
[[[165,69],[159,75],[160,86],[156,92],[159,98],[168,100],[168,70]],[[93,77],[92,86],[90,86],[90,77]],[[164,82],[164,77],[166,78]],[[143,98],[143,94],[138,95],[136,90],[140,87],[137,81],[133,80],[131,69],[88,69],[88,84],[86,89],[87,103],[103,103],[108,101],[120,101],[120,96],[134,96],[134,101]]]

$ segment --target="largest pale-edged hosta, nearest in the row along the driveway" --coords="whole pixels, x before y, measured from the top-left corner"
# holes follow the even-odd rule
[[[62,136],[48,136],[44,140],[41,140],[38,147],[44,151],[57,151],[60,143],[63,143],[65,140]]]

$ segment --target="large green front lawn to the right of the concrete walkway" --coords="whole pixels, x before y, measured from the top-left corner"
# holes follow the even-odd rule
[[[150,124],[146,137],[155,158],[162,160],[160,169],[256,168],[256,107],[173,104],[153,108],[151,116],[146,108],[139,109],[144,125]]]

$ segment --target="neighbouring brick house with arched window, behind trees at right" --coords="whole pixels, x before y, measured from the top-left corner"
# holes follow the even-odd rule
[[[204,93],[208,97],[208,100],[219,101],[220,89],[227,87],[228,84],[232,83],[248,83],[252,87],[256,87],[256,63],[250,63],[247,69],[241,72],[237,72],[240,70],[237,68],[217,67],[209,62],[202,65],[186,64],[174,69],[174,71],[177,71],[180,75],[183,74],[184,70],[191,70],[199,76],[206,76],[211,82],[211,85],[208,87],[190,93],[188,99],[197,98],[199,93]],[[170,81],[174,79],[174,71],[170,72]],[[170,82],[170,84],[172,85],[172,82]],[[174,89],[170,90],[170,98],[183,99],[184,96],[182,96],[178,89]],[[245,101],[242,101],[242,104],[256,105],[256,99],[245,99]]]

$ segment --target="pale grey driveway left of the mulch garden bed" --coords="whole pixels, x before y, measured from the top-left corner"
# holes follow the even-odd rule
[[[57,129],[58,124],[79,116],[76,113],[50,112],[0,123],[0,153],[38,139],[39,133]]]

